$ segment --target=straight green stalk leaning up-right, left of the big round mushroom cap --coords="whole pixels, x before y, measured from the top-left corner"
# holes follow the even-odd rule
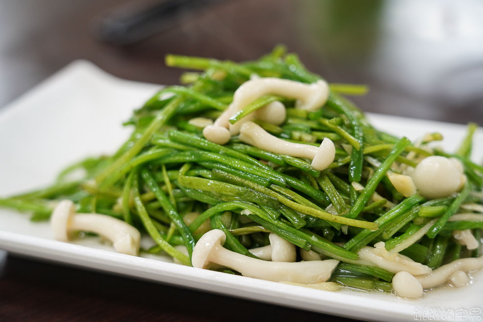
[[[364,208],[364,205],[369,201],[373,193],[376,191],[377,185],[381,181],[382,177],[386,174],[386,172],[390,169],[390,166],[396,160],[396,157],[404,150],[406,146],[410,144],[410,141],[403,137],[400,139],[396,145],[394,146],[393,150],[389,153],[387,158],[384,162],[377,168],[374,175],[369,179],[367,184],[365,185],[364,190],[357,198],[354,206],[352,207],[349,214],[346,215],[348,218],[356,218],[360,211]],[[354,150],[353,150],[354,151]]]

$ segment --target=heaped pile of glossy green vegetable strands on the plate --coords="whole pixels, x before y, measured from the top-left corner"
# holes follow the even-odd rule
[[[166,63],[198,72],[183,74],[185,86],[165,87],[135,110],[124,124],[133,127],[132,135],[116,153],[82,160],[63,170],[51,187],[0,199],[0,206],[31,212],[32,221],[41,221],[50,218],[59,200],[68,199],[78,212],[135,226],[154,244],[141,251],[166,253],[184,265],[191,265],[195,244],[208,229],[224,232],[225,248],[251,257],[249,249],[269,244],[274,233],[305,251],[339,260],[330,281],[363,290],[392,291],[394,273],[359,260],[358,251],[377,242],[432,269],[481,256],[478,248],[469,250],[453,238],[453,231],[471,229],[481,245],[483,166],[471,160],[476,125],[469,125],[455,153],[430,148],[442,139],[438,133],[411,143],[373,127],[342,96],[363,95],[367,88],[349,84],[330,84],[327,103],[316,111],[267,95],[232,117],[236,122],[281,101],[287,111],[283,124],[254,122],[289,142],[319,146],[329,138],[336,148],[334,162],[316,171],[310,160],[268,152],[237,136],[218,145],[202,135],[202,123],[215,120],[252,75],[319,80],[295,54],[277,47],[242,63],[177,55],[168,55]],[[459,160],[466,183],[442,198],[405,197],[388,174],[404,173],[432,155]],[[83,177],[72,180],[79,170]],[[452,220],[457,213],[474,216]],[[421,229],[422,236],[411,238]]]

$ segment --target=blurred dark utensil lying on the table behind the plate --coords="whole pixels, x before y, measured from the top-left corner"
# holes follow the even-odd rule
[[[99,38],[115,45],[142,41],[175,26],[201,8],[224,0],[156,1],[140,8],[139,2],[114,10],[102,19]]]

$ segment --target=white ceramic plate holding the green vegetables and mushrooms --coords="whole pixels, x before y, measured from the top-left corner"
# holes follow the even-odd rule
[[[113,152],[129,135],[129,129],[122,128],[121,123],[159,87],[121,80],[87,61],[75,61],[2,108],[0,196],[48,185],[64,166],[89,155]],[[405,134],[409,139],[440,131],[449,151],[465,134],[462,125],[374,114],[370,118],[380,129]],[[483,141],[482,131],[477,132],[475,141]],[[474,154],[480,161],[483,146],[475,145]],[[358,319],[465,320],[476,314],[482,316],[481,272],[473,275],[472,285],[431,291],[422,300],[357,291],[318,291],[185,267],[170,263],[168,258],[117,254],[97,238],[58,242],[52,239],[48,223],[31,223],[28,215],[4,209],[0,209],[0,248],[135,278]]]

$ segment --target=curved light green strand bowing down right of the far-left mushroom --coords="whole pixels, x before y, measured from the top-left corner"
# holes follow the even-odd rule
[[[134,196],[134,205],[137,213],[151,238],[170,256],[178,259],[183,265],[191,266],[190,258],[173,246],[171,246],[166,240],[164,240],[164,238],[159,234],[157,228],[153,224],[148,212],[146,211],[146,208],[144,207],[143,201],[141,200],[137,173],[134,174],[132,179],[132,191]]]

